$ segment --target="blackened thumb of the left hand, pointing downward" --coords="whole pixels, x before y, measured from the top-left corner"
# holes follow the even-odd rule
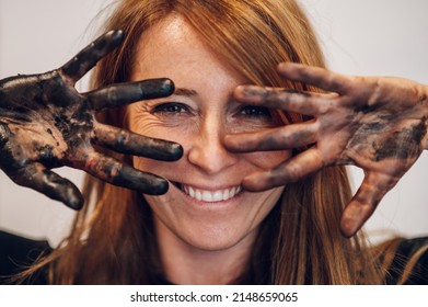
[[[28,164],[11,178],[16,184],[31,187],[53,200],[60,201],[72,209],[78,211],[83,206],[83,196],[72,182],[47,170],[39,163]]]

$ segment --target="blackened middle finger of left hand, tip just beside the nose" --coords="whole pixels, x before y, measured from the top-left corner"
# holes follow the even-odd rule
[[[117,152],[162,161],[175,161],[183,156],[183,147],[180,144],[138,135],[114,126],[96,123],[94,133],[95,143]]]

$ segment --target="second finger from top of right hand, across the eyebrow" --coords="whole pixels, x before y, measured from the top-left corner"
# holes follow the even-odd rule
[[[333,98],[332,95],[257,86],[239,86],[233,96],[238,102],[312,116],[325,112]]]

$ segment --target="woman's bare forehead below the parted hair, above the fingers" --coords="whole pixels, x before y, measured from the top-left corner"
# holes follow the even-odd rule
[[[174,79],[201,77],[242,79],[219,59],[181,15],[169,15],[138,42],[132,76]],[[175,80],[174,80],[175,81]]]

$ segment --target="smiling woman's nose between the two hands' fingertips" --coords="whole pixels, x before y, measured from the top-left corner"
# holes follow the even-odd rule
[[[223,125],[215,121],[204,121],[188,150],[188,161],[207,174],[220,173],[235,164],[239,159],[236,154],[224,148]]]

